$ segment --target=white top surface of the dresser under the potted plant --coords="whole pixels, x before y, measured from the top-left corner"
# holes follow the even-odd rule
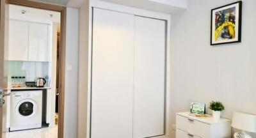
[[[226,118],[214,119],[214,118],[212,118],[211,115],[209,115],[209,117],[196,117],[196,116],[191,115],[190,112],[177,112],[177,115],[184,116],[186,118],[200,121],[203,123],[207,123],[210,125],[214,124],[214,123],[223,123],[223,122],[231,121],[230,119],[226,119]]]

